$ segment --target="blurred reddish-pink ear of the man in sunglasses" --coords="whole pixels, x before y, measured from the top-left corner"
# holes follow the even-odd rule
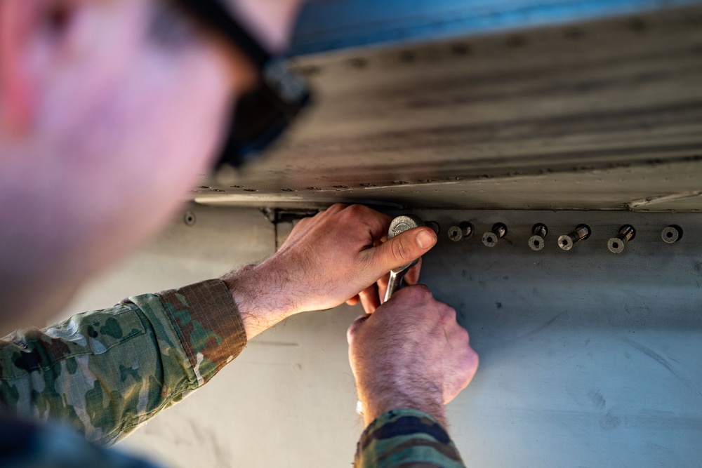
[[[38,78],[32,74],[32,46],[60,40],[72,15],[66,0],[0,1],[0,125],[24,133],[36,112]]]

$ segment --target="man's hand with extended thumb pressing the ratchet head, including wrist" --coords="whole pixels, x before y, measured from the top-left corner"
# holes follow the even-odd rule
[[[330,309],[375,288],[437,241],[432,229],[418,227],[381,243],[391,221],[365,206],[337,204],[298,222],[265,262],[225,276],[249,339],[288,316]]]

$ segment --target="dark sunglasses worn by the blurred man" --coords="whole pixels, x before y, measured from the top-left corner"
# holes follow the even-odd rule
[[[239,167],[256,159],[310,104],[310,91],[291,73],[286,60],[273,57],[227,11],[222,0],[176,0],[176,3],[230,41],[258,68],[258,83],[234,105],[230,130],[217,167]]]

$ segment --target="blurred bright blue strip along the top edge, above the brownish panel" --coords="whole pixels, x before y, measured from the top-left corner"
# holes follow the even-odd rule
[[[694,3],[685,0],[337,0],[305,5],[293,53],[427,41],[583,21]]]

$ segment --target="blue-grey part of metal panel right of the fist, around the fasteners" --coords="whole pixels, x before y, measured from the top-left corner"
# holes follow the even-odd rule
[[[419,210],[478,232],[504,222],[495,248],[443,236],[423,280],[458,309],[480,354],[449,405],[473,467],[697,467],[702,440],[702,216],[570,211]],[[684,229],[669,245],[661,230]],[[527,245],[536,222],[543,250]],[[586,223],[570,251],[558,234]],[[636,237],[621,255],[607,240]]]

